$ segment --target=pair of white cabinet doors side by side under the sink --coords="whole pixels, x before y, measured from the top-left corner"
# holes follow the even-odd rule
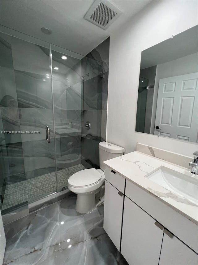
[[[130,265],[198,264],[192,249],[126,196],[121,254]]]

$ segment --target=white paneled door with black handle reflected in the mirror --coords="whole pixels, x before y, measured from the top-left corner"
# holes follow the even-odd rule
[[[161,135],[197,141],[197,79],[198,73],[160,79],[155,127]]]

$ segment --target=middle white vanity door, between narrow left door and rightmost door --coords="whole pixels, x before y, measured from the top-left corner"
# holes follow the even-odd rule
[[[163,228],[125,196],[121,253],[130,265],[158,265]]]

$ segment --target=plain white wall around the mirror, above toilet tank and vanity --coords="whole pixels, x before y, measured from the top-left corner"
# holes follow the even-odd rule
[[[197,144],[135,132],[141,51],[197,25],[196,1],[153,1],[110,36],[108,142],[136,143],[192,156]]]

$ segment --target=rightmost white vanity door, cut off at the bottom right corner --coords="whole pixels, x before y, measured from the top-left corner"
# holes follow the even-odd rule
[[[171,235],[171,234],[170,234]],[[159,265],[194,265],[198,264],[197,254],[177,237],[163,237]]]

